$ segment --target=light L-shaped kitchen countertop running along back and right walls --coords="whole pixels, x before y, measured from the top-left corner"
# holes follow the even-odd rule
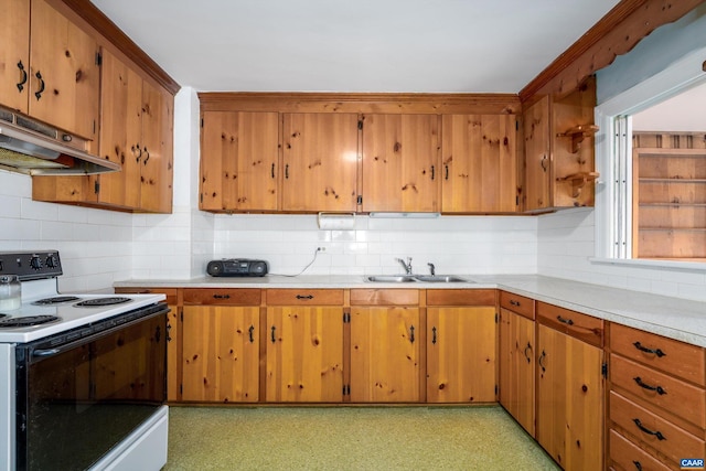
[[[571,309],[596,318],[706,347],[706,302],[590,285],[538,275],[460,275],[469,282],[370,282],[362,275],[268,275],[256,278],[189,280],[132,279],[116,288],[392,288],[483,289],[498,288],[515,295]]]

